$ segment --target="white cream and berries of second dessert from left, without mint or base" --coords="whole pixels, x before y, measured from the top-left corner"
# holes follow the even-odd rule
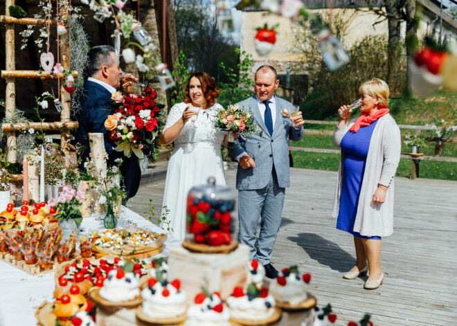
[[[152,319],[173,318],[186,313],[186,292],[176,279],[171,283],[150,278],[148,287],[141,291],[143,313]]]

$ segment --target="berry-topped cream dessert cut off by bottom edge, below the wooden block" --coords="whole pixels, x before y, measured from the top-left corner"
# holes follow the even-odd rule
[[[194,303],[187,310],[188,319],[184,326],[230,326],[230,311],[225,307],[219,293],[204,289],[195,296]]]

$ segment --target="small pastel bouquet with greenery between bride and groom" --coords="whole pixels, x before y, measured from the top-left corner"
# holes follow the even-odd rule
[[[240,110],[239,105],[228,105],[216,114],[215,127],[228,132],[240,132],[247,136],[257,132],[251,110]]]

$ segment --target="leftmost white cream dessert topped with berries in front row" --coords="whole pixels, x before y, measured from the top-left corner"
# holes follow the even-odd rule
[[[111,302],[133,300],[140,295],[138,275],[123,269],[114,269],[108,273],[108,278],[103,282],[100,296]]]

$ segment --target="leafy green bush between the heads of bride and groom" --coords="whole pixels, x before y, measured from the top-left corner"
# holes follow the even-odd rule
[[[242,57],[240,63],[237,64],[237,71],[231,67],[226,67],[223,62],[219,63],[220,69],[226,76],[227,82],[219,83],[219,104],[222,107],[227,107],[235,102],[240,102],[252,95],[253,80],[249,77],[249,71],[254,65],[254,60],[250,53],[241,52],[239,48],[235,48],[236,55]]]

